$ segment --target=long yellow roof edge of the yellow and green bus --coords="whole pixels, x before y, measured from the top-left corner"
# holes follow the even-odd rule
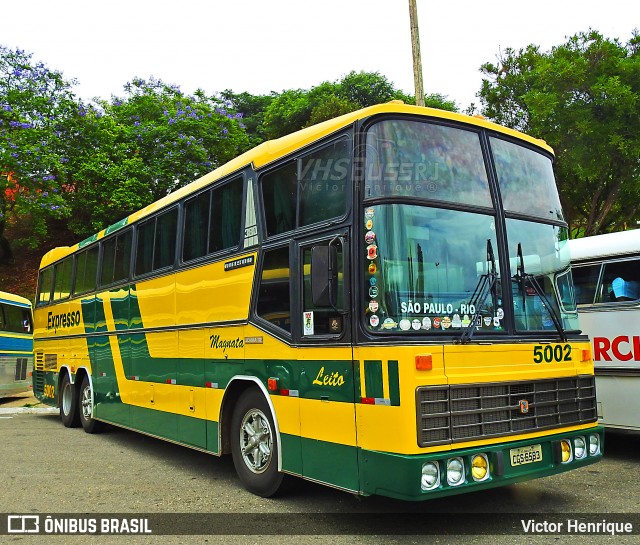
[[[232,159],[228,163],[221,165],[217,169],[205,174],[201,178],[177,189],[173,193],[151,203],[150,205],[134,212],[127,218],[117,222],[116,224],[103,229],[102,231],[96,233],[95,235],[85,239],[84,241],[74,245],[74,246],[64,246],[54,248],[47,252],[43,257],[40,263],[40,268],[44,268],[47,265],[62,259],[66,255],[73,253],[79,248],[103,238],[105,235],[111,234],[125,225],[129,225],[135,221],[138,221],[146,216],[149,216],[160,210],[166,206],[169,206],[175,202],[178,202],[181,198],[197,192],[199,189],[209,185],[210,183],[221,179],[228,174],[232,174],[233,172],[239,171],[242,168],[253,165],[254,168],[258,169],[285,157],[286,155],[293,153],[301,148],[304,148],[308,144],[315,142],[316,140],[328,136],[334,132],[337,132],[349,125],[355,123],[356,121],[360,121],[362,119],[366,119],[373,115],[379,114],[413,114],[420,116],[428,116],[435,117],[439,119],[448,119],[452,121],[460,121],[463,123],[467,123],[470,125],[476,125],[478,127],[493,130],[496,132],[500,132],[509,136],[513,136],[520,140],[524,140],[538,146],[549,153],[553,153],[553,150],[544,140],[540,140],[538,138],[533,138],[532,136],[526,135],[519,131],[509,129],[507,127],[503,127],[496,123],[486,120],[481,116],[468,116],[464,114],[459,114],[455,112],[449,112],[446,110],[439,110],[436,108],[425,108],[419,106],[411,106],[408,104],[404,104],[402,101],[394,100],[388,102],[386,104],[378,104],[376,106],[369,106],[367,108],[362,108],[361,110],[356,110],[355,112],[351,112],[340,117],[336,117],[334,119],[330,119],[328,121],[324,121],[322,123],[318,123],[317,125],[313,125],[311,127],[307,127],[306,129],[302,129],[296,131],[294,133],[288,134],[276,140],[269,140],[263,142],[262,144],[256,146],[255,148],[250,149],[249,151],[239,155],[235,159]]]

